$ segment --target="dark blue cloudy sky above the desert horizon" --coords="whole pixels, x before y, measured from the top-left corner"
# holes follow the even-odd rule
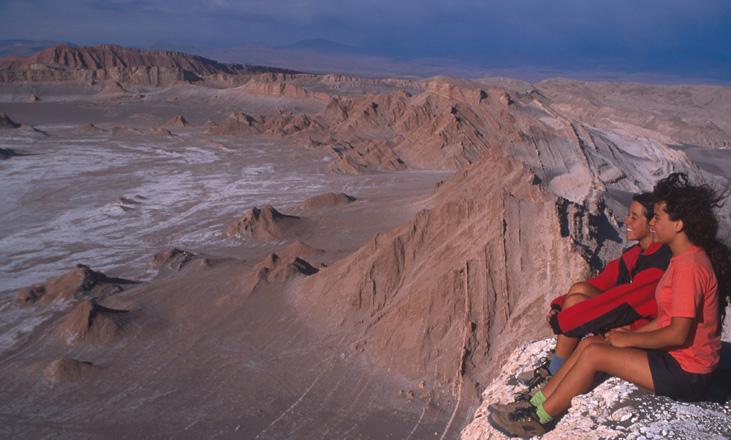
[[[0,39],[281,46],[731,81],[727,0],[0,0]]]

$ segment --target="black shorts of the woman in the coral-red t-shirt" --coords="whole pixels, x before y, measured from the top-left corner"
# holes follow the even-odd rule
[[[655,394],[686,402],[708,400],[711,374],[689,373],[667,351],[648,350]]]

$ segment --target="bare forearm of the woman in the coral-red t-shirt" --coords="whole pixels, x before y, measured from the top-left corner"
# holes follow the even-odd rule
[[[615,347],[635,347],[645,349],[667,348],[683,345],[690,334],[693,318],[673,318],[670,325],[661,329],[645,330],[648,326],[657,326],[652,321],[639,331],[610,331],[607,341]]]

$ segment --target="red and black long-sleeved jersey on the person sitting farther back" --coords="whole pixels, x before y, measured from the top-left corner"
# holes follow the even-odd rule
[[[566,295],[551,302],[551,308],[559,310],[551,316],[553,332],[583,337],[627,324],[632,324],[632,328],[644,325],[657,316],[655,287],[671,257],[670,249],[659,243],[653,243],[644,252],[639,245],[627,248],[620,258],[587,281],[601,294],[566,310],[561,308]]]

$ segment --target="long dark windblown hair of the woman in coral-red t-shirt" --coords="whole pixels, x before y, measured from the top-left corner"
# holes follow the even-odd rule
[[[673,173],[657,182],[652,195],[656,203],[665,202],[671,220],[683,221],[685,235],[710,258],[718,280],[719,313],[723,322],[731,299],[731,252],[716,237],[718,218],[714,209],[723,206],[728,191],[717,192],[708,185],[691,185],[685,173]]]

